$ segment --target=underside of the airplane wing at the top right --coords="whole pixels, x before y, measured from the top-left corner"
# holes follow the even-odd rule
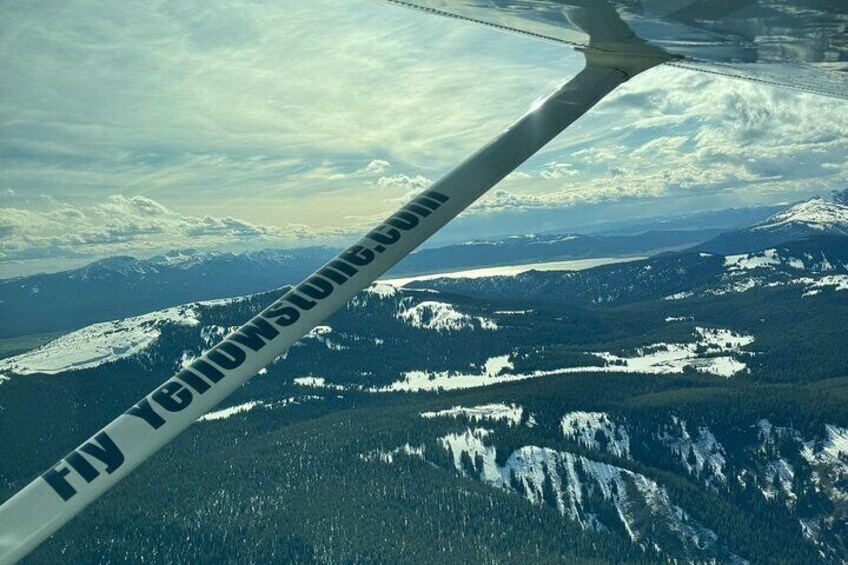
[[[593,0],[383,0],[581,49]],[[668,64],[848,99],[844,0],[612,0]]]

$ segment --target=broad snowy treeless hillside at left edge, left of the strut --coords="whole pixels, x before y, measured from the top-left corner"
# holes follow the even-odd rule
[[[56,374],[90,369],[137,355],[161,335],[167,324],[197,326],[200,303],[166,308],[143,316],[102,322],[65,334],[21,355],[0,360],[0,374]]]

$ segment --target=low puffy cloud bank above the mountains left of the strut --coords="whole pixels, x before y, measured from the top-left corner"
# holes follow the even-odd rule
[[[0,208],[0,262],[188,246],[293,245],[317,235],[298,224],[281,228],[232,217],[180,214],[143,196],[112,195],[89,206],[50,199],[41,210]]]

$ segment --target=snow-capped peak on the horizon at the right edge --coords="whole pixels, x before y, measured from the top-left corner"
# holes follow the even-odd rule
[[[743,230],[721,234],[697,247],[714,253],[757,251],[817,235],[848,235],[848,204],[815,197]]]

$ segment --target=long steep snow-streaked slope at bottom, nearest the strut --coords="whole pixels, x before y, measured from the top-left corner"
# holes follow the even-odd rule
[[[460,474],[523,496],[537,506],[553,504],[564,518],[584,529],[608,532],[623,527],[631,541],[654,555],[663,555],[664,546],[670,544],[691,561],[744,562],[644,475],[534,445],[516,449],[499,465],[493,435],[490,429],[467,428],[437,443]],[[391,463],[400,453],[426,460],[423,446],[408,444],[361,457]]]

